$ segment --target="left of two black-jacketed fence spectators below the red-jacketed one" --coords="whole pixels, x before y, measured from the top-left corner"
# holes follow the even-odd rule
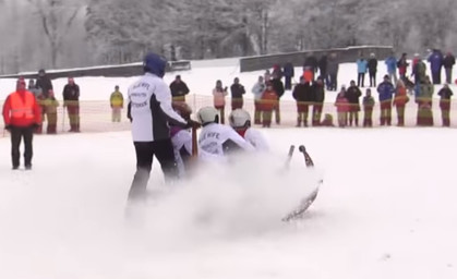
[[[304,80],[303,76],[300,77],[300,83],[296,85],[292,92],[292,97],[297,104],[297,125],[308,126],[308,111],[309,107],[314,101],[313,88],[310,83]]]

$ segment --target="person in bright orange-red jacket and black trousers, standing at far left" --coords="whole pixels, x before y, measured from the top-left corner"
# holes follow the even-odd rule
[[[41,122],[41,110],[35,95],[26,90],[25,81],[20,78],[16,90],[3,104],[4,129],[11,133],[11,157],[13,170],[20,166],[20,144],[24,138],[24,167],[32,169],[33,134]]]

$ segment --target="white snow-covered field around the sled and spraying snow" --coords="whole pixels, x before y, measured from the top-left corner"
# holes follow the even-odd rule
[[[214,83],[200,73],[228,70],[182,76],[206,92],[196,82]],[[80,84],[109,85],[94,93],[103,99],[111,82]],[[263,133],[273,155],[204,169],[130,218],[129,132],[36,136],[32,171],[11,170],[10,141],[0,137],[0,278],[457,278],[457,130]],[[306,145],[315,172],[296,154],[284,174],[290,144]],[[279,221],[315,175],[324,184],[305,217]],[[149,189],[164,189],[161,180],[156,163]]]

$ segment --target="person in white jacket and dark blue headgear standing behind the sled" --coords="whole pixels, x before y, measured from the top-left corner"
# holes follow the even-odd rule
[[[136,154],[136,172],[129,192],[131,201],[145,197],[154,156],[160,162],[166,182],[178,177],[168,124],[196,125],[172,109],[170,88],[163,80],[166,64],[163,57],[148,53],[143,63],[145,74],[129,88],[128,117]]]

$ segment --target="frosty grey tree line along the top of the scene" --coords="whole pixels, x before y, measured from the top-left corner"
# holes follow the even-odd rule
[[[453,0],[0,0],[0,71],[394,46],[450,49]],[[21,19],[21,20],[17,20]]]

